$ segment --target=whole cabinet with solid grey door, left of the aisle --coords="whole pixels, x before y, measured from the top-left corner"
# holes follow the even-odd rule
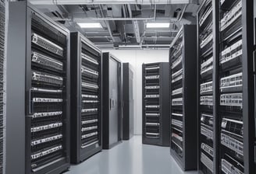
[[[112,54],[102,54],[103,78],[103,148],[122,141],[122,64]]]

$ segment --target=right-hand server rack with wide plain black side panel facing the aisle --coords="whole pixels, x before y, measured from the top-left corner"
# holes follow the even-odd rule
[[[197,27],[184,25],[169,50],[170,150],[183,170],[197,169]]]

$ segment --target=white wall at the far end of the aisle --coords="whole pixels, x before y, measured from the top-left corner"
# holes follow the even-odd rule
[[[142,134],[142,64],[169,61],[169,50],[103,50],[122,62],[129,62],[134,72],[134,134]]]

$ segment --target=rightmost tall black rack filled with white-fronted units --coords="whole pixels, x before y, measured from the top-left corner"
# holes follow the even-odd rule
[[[244,173],[244,121],[243,121],[243,37],[242,0],[219,2],[215,11],[219,23],[219,55],[215,61],[219,90],[219,173]],[[218,18],[217,18],[218,17]],[[216,51],[218,52],[216,49]]]

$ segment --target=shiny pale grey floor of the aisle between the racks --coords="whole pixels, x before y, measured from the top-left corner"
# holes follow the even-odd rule
[[[169,148],[145,145],[141,136],[103,150],[65,174],[195,174],[183,172],[169,154]]]

